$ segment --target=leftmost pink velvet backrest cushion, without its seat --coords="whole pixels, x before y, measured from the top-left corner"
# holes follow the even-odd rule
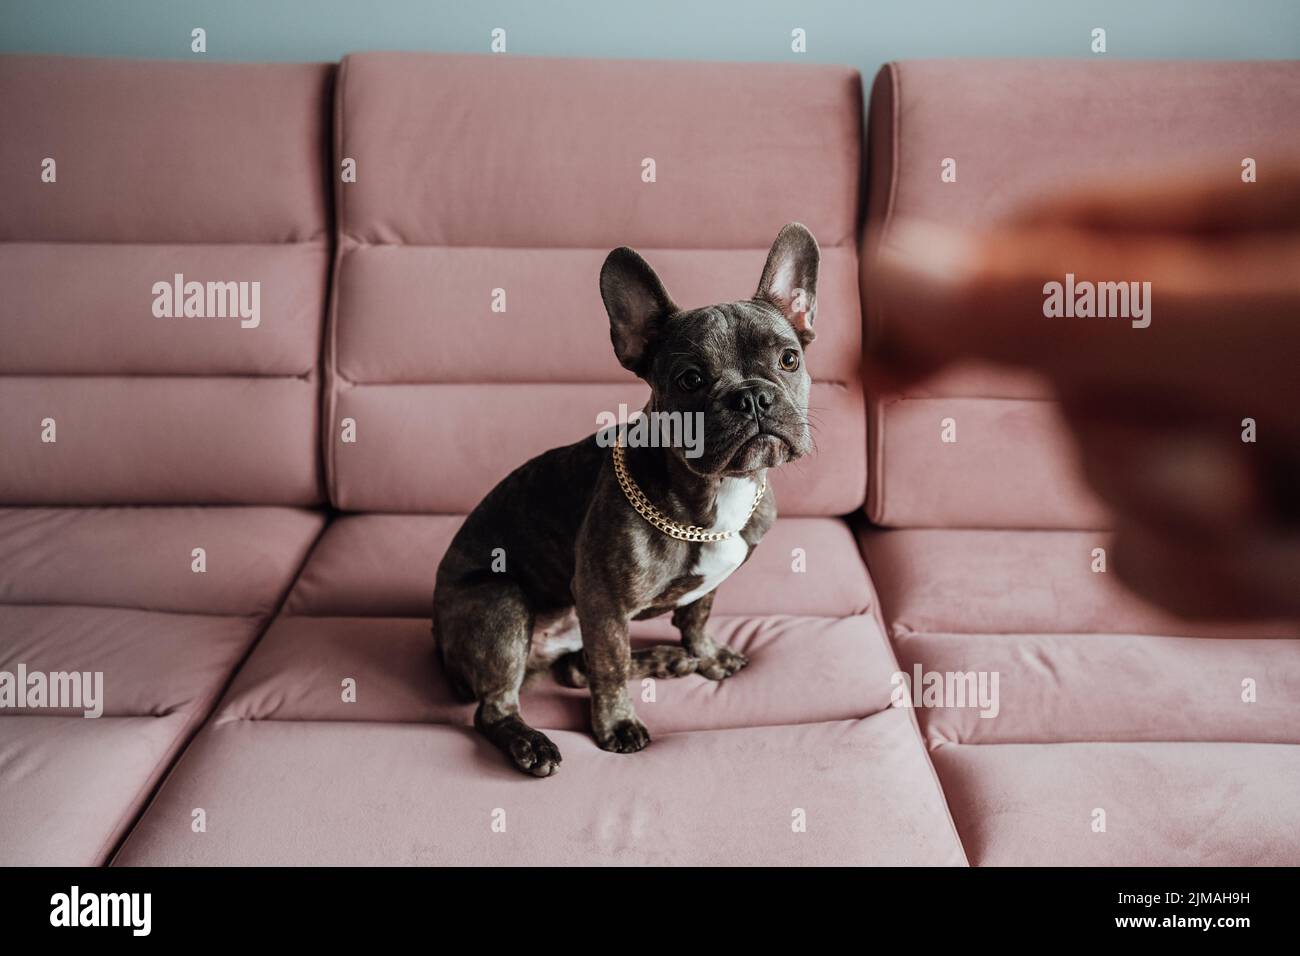
[[[321,499],[332,73],[0,57],[0,503]]]

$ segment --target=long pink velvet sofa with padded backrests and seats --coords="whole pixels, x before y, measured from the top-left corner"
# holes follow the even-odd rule
[[[859,375],[859,303],[906,321],[859,281],[896,217],[978,221],[1206,135],[1235,165],[1297,79],[892,65],[867,161],[838,68],[0,57],[0,671],[103,671],[107,701],[0,714],[0,862],[1300,862],[1300,631],[1093,574],[1105,514],[1036,382]],[[524,778],[438,672],[442,550],[511,467],[644,399],[611,247],[684,304],[744,298],[794,219],[820,453],[719,592],[753,663],[634,688],[636,756],[543,679],[525,713],[566,761]],[[176,273],[260,281],[260,323],[155,317]],[[916,665],[997,671],[998,715],[890,706]]]

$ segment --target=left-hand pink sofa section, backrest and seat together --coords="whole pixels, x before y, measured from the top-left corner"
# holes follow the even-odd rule
[[[324,527],[332,73],[0,57],[0,672],[103,680],[0,710],[0,864],[109,860]]]

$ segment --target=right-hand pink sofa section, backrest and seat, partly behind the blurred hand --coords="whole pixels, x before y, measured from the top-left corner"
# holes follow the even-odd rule
[[[890,64],[864,276],[905,219],[980,226],[1153,166],[1275,169],[1300,153],[1297,81],[1296,62]],[[909,320],[862,294],[868,338]],[[1115,583],[1110,520],[1032,376],[871,385],[859,540],[970,862],[1300,862],[1300,626],[1179,620]],[[959,696],[994,676],[996,708]]]

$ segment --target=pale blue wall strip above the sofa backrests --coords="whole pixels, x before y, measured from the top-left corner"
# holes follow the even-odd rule
[[[0,0],[0,52],[337,60],[359,49],[798,60],[922,56],[1300,57],[1300,0]],[[809,51],[790,52],[803,27]]]

